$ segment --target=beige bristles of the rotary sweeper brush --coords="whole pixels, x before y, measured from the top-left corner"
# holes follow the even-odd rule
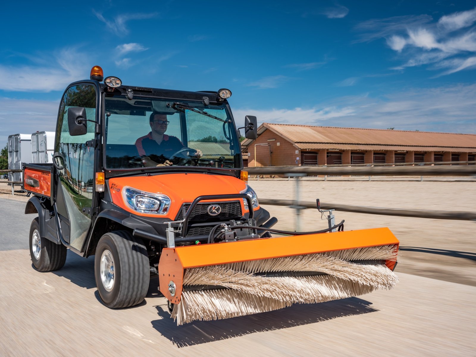
[[[181,325],[390,289],[398,278],[382,262],[396,254],[397,247],[389,245],[188,268],[172,317]],[[193,286],[201,290],[187,290]]]

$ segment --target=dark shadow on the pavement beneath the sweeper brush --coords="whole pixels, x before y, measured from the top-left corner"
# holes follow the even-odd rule
[[[320,304],[293,305],[284,309],[256,315],[234,317],[217,321],[197,321],[177,326],[170,318],[167,307],[158,306],[159,320],[152,326],[178,347],[199,345],[255,332],[313,324],[336,317],[353,316],[378,311],[372,303],[358,297],[323,302]]]

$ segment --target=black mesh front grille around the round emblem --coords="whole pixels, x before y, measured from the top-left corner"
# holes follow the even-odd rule
[[[218,204],[221,207],[221,212],[217,216],[210,216],[208,214],[208,207],[212,204]],[[178,212],[177,218],[175,220],[182,220],[185,217],[185,213],[190,207],[190,203],[186,203],[182,206]],[[227,220],[232,218],[240,218],[241,214],[241,204],[239,201],[227,201],[227,202],[206,202],[198,203],[197,206],[193,209],[192,214],[190,215],[189,221],[206,221],[213,219],[217,220]],[[208,230],[209,232],[209,230]]]

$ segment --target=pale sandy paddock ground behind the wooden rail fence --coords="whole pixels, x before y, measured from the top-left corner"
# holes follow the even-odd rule
[[[258,198],[294,199],[295,179],[251,179]],[[20,189],[20,187],[17,187]],[[445,179],[415,181],[381,179],[304,178],[299,181],[304,201],[320,198],[322,202],[383,208],[434,209],[450,211],[476,210],[476,182]],[[28,201],[26,194],[0,183],[0,197]],[[294,230],[296,210],[263,206],[278,218],[274,228]],[[345,219],[345,229],[389,227],[400,240],[397,270],[461,284],[476,286],[476,222],[449,219],[394,217],[335,212],[336,221]],[[300,215],[301,230],[327,228],[327,221],[314,209]]]

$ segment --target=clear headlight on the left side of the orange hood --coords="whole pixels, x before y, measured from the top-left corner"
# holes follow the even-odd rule
[[[160,193],[141,191],[132,187],[122,188],[124,202],[135,211],[165,215],[169,211],[169,196]]]

